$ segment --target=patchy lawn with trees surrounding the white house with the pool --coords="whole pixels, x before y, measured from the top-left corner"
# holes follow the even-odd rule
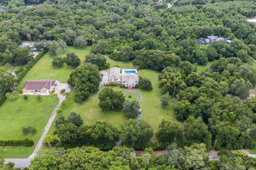
[[[107,61],[110,63],[110,67],[114,65],[119,65],[121,68],[125,69],[132,69],[133,65],[132,62],[116,62],[111,60],[109,57],[107,57]],[[159,123],[163,119],[169,120],[174,123],[178,123],[182,125],[182,123],[178,122],[175,119],[175,116],[173,115],[173,109],[171,106],[167,107],[166,109],[161,108],[161,96],[162,92],[161,89],[158,88],[158,75],[159,72],[152,71],[152,70],[139,70],[139,75],[142,77],[148,78],[153,83],[153,90],[151,91],[144,91],[141,89],[137,89],[142,94],[142,100],[140,101],[140,106],[143,112],[142,120],[149,123],[152,128],[154,129],[154,132],[157,131]],[[103,88],[103,87],[102,87]],[[119,88],[119,87],[113,87],[114,90],[123,91],[125,89]],[[128,98],[128,96],[131,95],[132,98]],[[73,91],[69,94],[69,99],[67,105],[64,107],[62,113],[60,115],[63,115],[67,117],[70,112],[76,112],[77,114],[80,114],[84,120],[84,123],[87,124],[93,124],[97,121],[106,121],[117,128],[119,128],[124,121],[127,120],[123,112],[102,112],[99,107],[99,94],[95,93],[92,94],[89,99],[84,101],[82,104],[75,103],[74,101],[74,93]],[[137,99],[137,95],[135,94],[126,94],[125,98],[127,100],[133,100]],[[59,115],[58,115],[59,116]],[[54,124],[51,127],[50,133],[54,131],[55,127]],[[155,140],[155,137],[153,138]]]

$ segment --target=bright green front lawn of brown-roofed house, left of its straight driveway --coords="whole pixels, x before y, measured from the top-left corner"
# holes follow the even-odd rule
[[[37,142],[41,137],[49,118],[58,104],[58,99],[52,96],[28,96],[27,100],[19,96],[15,101],[6,99],[0,106],[0,140],[31,139]],[[23,126],[34,126],[35,134],[24,135]],[[34,150],[35,146],[7,146],[7,151],[0,149],[0,157],[25,158]]]

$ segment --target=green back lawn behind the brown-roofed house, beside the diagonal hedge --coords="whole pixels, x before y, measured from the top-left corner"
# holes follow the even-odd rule
[[[56,56],[50,56],[49,53],[46,53],[41,60],[39,60],[32,69],[25,75],[22,79],[19,89],[22,89],[25,81],[35,79],[35,80],[59,80],[61,82],[67,82],[69,74],[72,71],[66,64],[61,68],[52,67],[52,60],[54,57],[65,57],[66,53],[69,51],[75,52],[76,55],[80,58],[81,62],[84,61],[85,55],[89,54],[91,47],[85,48],[75,48],[68,47],[65,49],[65,52],[57,52]]]

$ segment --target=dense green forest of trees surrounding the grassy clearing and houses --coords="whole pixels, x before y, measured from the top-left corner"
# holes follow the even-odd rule
[[[54,166],[57,169],[78,168],[67,162],[68,158],[74,157],[75,152],[88,153],[86,160],[79,160],[84,164],[87,164],[86,161],[90,159],[92,152],[99,152],[99,157],[108,159],[106,162],[109,165],[104,165],[105,169],[118,169],[112,167],[117,164],[120,169],[168,169],[165,166],[169,165],[169,169],[249,169],[255,166],[255,160],[249,165],[247,158],[230,153],[229,156],[226,153],[218,163],[205,164],[207,159],[202,160],[203,166],[200,167],[190,166],[186,161],[192,157],[189,152],[198,149],[197,145],[203,145],[195,143],[204,143],[200,149],[205,150],[212,148],[215,139],[218,140],[215,146],[217,149],[256,147],[256,97],[249,99],[250,89],[256,85],[256,68],[251,65],[252,58],[256,59],[256,25],[246,21],[246,18],[256,16],[256,2],[180,0],[173,2],[172,7],[168,7],[167,3],[172,2],[156,4],[152,0],[0,1],[2,65],[9,63],[24,66],[16,71],[18,75],[19,72],[28,70],[27,65],[35,59],[31,57],[29,48],[18,48],[21,41],[25,40],[37,42],[37,49],[49,52],[50,55],[55,55],[57,50],[63,50],[67,46],[92,46],[93,54],[90,54],[87,60],[92,61],[98,56],[98,60],[102,62],[100,69],[106,68],[106,60],[100,59],[102,54],[109,55],[115,61],[132,61],[137,69],[158,71],[159,88],[163,95],[170,95],[174,114],[177,120],[184,124],[181,128],[163,120],[156,132],[158,143],[149,144],[153,130],[146,122],[136,124],[130,120],[118,131],[106,122],[89,126],[62,120],[55,133],[63,146],[87,141],[82,145],[109,150],[121,137],[126,141],[124,145],[135,149],[145,149],[148,146],[164,149],[173,141],[178,142],[179,148],[166,148],[166,155],[163,156],[153,156],[149,152],[148,155],[137,158],[139,160],[127,155],[127,151],[114,149],[110,152],[100,152],[95,148],[70,149],[63,153],[63,156],[59,154],[63,152],[61,150],[49,151],[42,159],[56,158]],[[229,37],[231,44],[215,42],[207,46],[199,45],[197,39],[207,36]],[[58,65],[59,61],[55,62],[55,65]],[[209,69],[201,73],[196,72],[198,65],[206,65],[208,62],[212,62]],[[79,63],[80,61],[76,66]],[[94,71],[88,73],[94,75],[93,80],[86,80],[87,84],[82,80],[73,81],[86,69]],[[90,93],[97,90],[100,81],[97,69],[93,64],[82,65],[70,74],[69,84],[81,91],[76,94],[77,102],[83,102]],[[90,84],[90,81],[94,84]],[[6,70],[1,70],[0,82],[2,103],[5,94],[15,89],[18,80]],[[89,86],[92,88],[88,89]],[[102,134],[98,137],[98,142],[105,141],[105,145],[100,145],[102,143],[97,143],[97,140],[83,133],[87,129],[93,133],[98,126],[107,127],[108,133],[112,134],[109,137]],[[145,137],[145,141],[130,140],[131,134],[126,133],[130,126],[141,130],[140,136],[133,135],[136,138]],[[67,137],[66,134],[70,133],[75,137]],[[169,160],[173,159],[168,156],[172,155],[170,153],[175,149],[185,150],[183,158],[186,160],[179,160],[178,156],[182,155],[178,155],[175,159],[177,162],[169,163]],[[237,159],[241,160],[242,168],[231,163]],[[39,158],[34,160],[31,166],[37,169],[40,161],[42,160]],[[95,169],[94,165],[92,169]]]

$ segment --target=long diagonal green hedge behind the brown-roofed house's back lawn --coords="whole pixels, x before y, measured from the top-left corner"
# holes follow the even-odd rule
[[[17,73],[18,82],[20,82],[21,79],[25,76],[25,74],[38,62],[38,60],[40,60],[40,58],[43,57],[44,53],[45,53],[45,50],[42,50],[37,54],[37,56],[34,58],[33,61],[29,62],[24,67],[21,67],[21,69],[17,70],[16,73]]]

